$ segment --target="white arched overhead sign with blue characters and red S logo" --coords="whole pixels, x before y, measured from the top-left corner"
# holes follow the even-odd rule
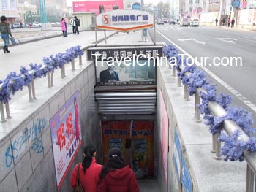
[[[136,31],[154,26],[154,16],[140,10],[114,10],[97,16],[97,28],[111,31]]]

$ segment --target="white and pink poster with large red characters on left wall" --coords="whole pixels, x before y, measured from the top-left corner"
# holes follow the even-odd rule
[[[82,144],[78,92],[50,119],[58,190]]]

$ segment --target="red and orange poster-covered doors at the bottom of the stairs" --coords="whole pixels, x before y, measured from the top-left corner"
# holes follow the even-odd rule
[[[103,162],[111,147],[121,149],[124,161],[137,179],[154,176],[154,122],[151,120],[102,120]]]

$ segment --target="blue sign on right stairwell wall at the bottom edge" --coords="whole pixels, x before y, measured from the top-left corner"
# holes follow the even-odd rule
[[[193,183],[192,183],[192,179],[189,174],[189,169],[187,167],[187,163],[184,157],[182,157],[181,169],[182,169],[181,183],[183,185],[184,191],[192,192]]]

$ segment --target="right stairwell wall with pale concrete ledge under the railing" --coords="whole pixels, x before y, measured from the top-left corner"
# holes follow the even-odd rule
[[[168,156],[168,184],[162,166],[162,149],[160,142],[160,111],[159,91],[165,101],[169,120],[169,152]],[[175,148],[174,133],[178,132],[181,142],[181,152],[184,157],[189,174],[192,178],[192,191],[246,191],[246,163],[230,162],[214,159],[211,153],[212,136],[208,126],[203,122],[195,122],[194,98],[184,100],[184,86],[178,87],[177,77],[172,76],[172,70],[166,66],[157,66],[157,181],[162,187],[161,191],[181,191],[178,183],[173,154]],[[182,177],[182,169],[180,167]],[[167,186],[167,187],[166,187]]]

